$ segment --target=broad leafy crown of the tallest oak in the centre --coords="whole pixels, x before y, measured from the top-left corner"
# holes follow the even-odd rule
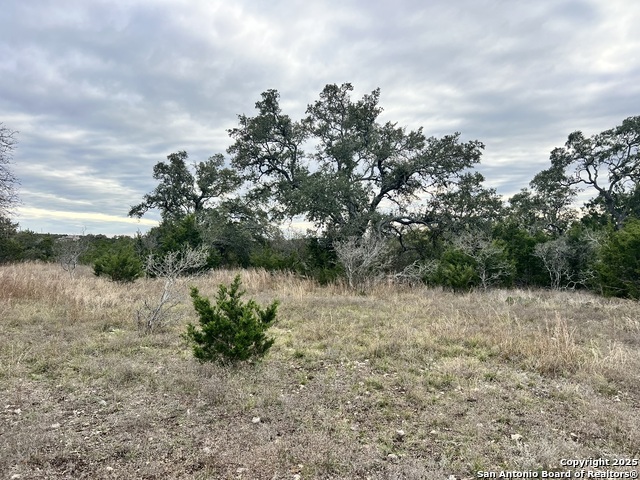
[[[331,237],[431,223],[430,201],[469,182],[484,145],[381,124],[380,90],[357,101],[352,91],[349,83],[327,85],[299,121],[282,112],[276,90],[264,92],[257,115],[240,115],[229,131],[233,166],[253,182],[255,198],[272,202],[276,218],[302,215]]]

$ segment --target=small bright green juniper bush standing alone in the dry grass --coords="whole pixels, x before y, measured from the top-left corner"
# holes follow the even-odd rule
[[[221,284],[213,306],[208,298],[199,295],[197,288],[191,289],[200,328],[187,325],[184,338],[192,345],[198,361],[247,361],[263,357],[273,345],[274,339],[267,338],[265,332],[276,320],[278,302],[264,309],[253,300],[243,303],[241,297],[246,292],[240,290],[240,285],[240,275],[228,287]]]

